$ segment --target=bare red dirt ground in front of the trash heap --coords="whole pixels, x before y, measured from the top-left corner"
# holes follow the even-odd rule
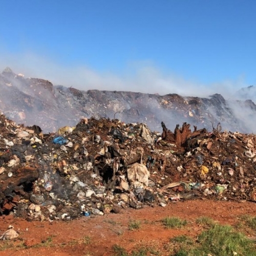
[[[196,236],[202,227],[195,223],[200,216],[208,216],[221,224],[235,225],[241,215],[256,215],[256,204],[251,202],[224,202],[192,200],[170,203],[167,207],[127,209],[121,213],[104,216],[81,217],[72,221],[28,222],[12,216],[0,216],[0,234],[13,225],[20,235],[14,242],[25,243],[25,248],[6,248],[0,256],[111,256],[113,245],[128,252],[140,245],[159,249],[177,235]],[[166,229],[161,220],[177,216],[189,221],[182,229]],[[129,230],[131,220],[140,220],[137,230]],[[43,243],[51,237],[52,242]],[[88,243],[83,238],[89,237]],[[6,241],[0,241],[0,248]],[[7,246],[8,247],[8,246]],[[164,254],[162,254],[164,255]]]

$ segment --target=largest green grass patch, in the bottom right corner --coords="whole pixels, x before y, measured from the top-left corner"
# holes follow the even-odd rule
[[[256,246],[244,234],[235,232],[231,226],[215,224],[209,230],[203,231],[194,243],[181,240],[179,250],[174,256],[255,256]],[[176,240],[177,242],[177,240]],[[236,253],[236,254],[235,254]]]

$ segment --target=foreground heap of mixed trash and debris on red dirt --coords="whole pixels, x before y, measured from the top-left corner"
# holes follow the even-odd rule
[[[193,198],[256,201],[256,136],[82,119],[43,134],[0,114],[0,214],[69,220]]]

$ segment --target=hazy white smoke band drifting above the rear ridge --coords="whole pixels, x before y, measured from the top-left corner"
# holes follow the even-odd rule
[[[208,97],[220,93],[226,99],[234,90],[245,87],[240,79],[237,81],[220,81],[203,84],[199,81],[186,80],[175,75],[163,73],[152,62],[128,63],[123,74],[111,71],[97,71],[88,66],[73,66],[60,64],[45,56],[33,53],[18,55],[1,55],[0,69],[6,66],[25,77],[35,77],[50,80],[54,85],[64,85],[81,90],[118,90],[142,93],[158,93],[160,95],[177,93],[182,96]]]

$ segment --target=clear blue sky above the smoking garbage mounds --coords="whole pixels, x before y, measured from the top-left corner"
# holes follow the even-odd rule
[[[255,0],[2,1],[0,67],[56,83],[76,70],[78,87],[86,69],[100,89],[255,85],[255,14]]]

